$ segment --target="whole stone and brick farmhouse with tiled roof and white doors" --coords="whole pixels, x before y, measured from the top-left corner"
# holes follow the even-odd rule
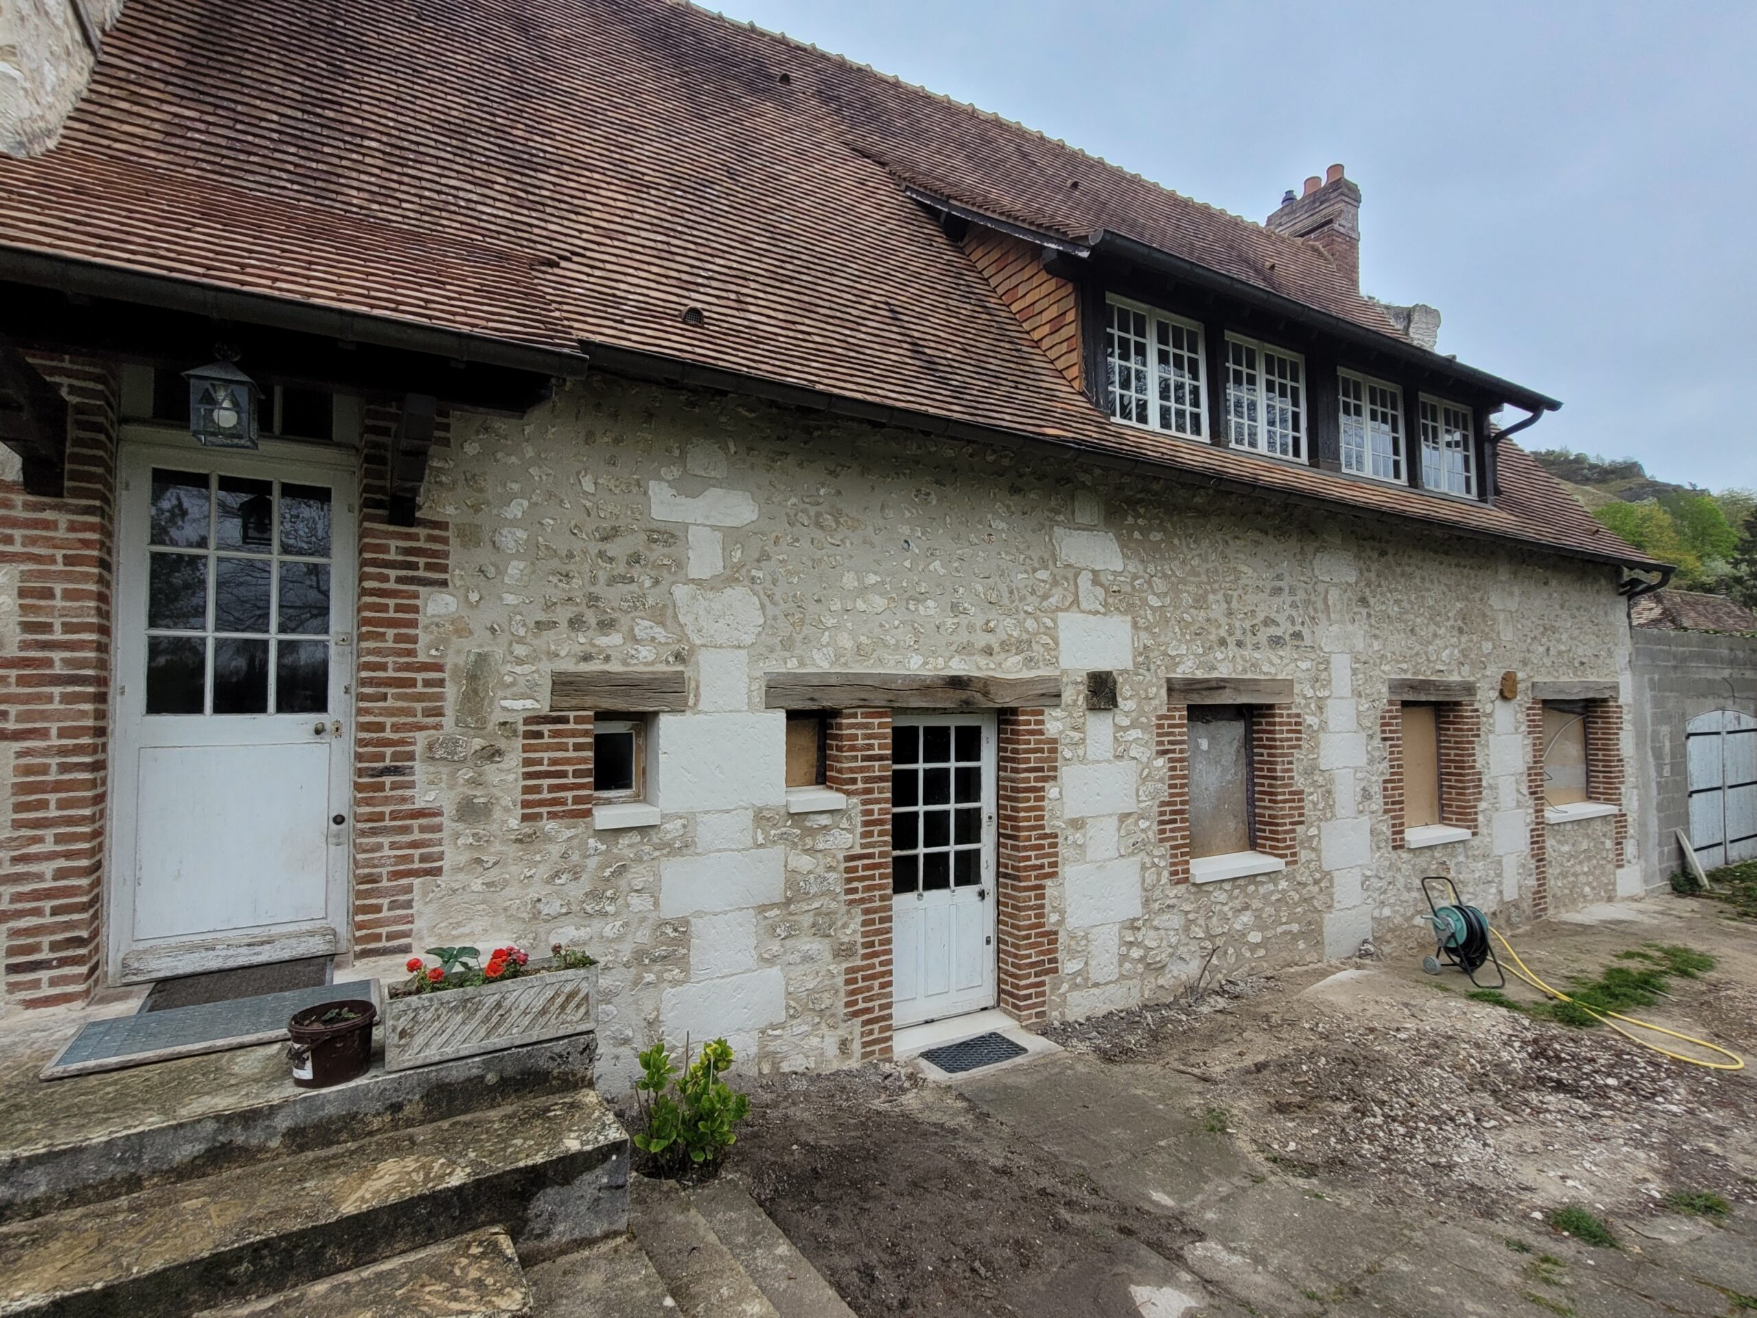
[[[657,0],[223,11],[0,162],[9,1010],[566,942],[606,1083],[828,1068],[1641,889],[1666,569],[1341,167],[1249,223]]]

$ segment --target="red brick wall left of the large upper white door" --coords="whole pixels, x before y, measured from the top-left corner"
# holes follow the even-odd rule
[[[90,996],[104,956],[118,385],[107,367],[32,360],[72,415],[65,497],[0,483],[0,566],[18,573],[16,641],[0,648],[0,937],[7,996],[54,1007]]]

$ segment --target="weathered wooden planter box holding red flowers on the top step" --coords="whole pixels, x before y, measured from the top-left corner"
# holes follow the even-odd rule
[[[504,984],[385,996],[385,1070],[495,1053],[594,1028],[597,967],[524,974]]]

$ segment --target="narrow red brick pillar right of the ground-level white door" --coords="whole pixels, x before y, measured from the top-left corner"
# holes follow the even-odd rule
[[[1049,1009],[1049,977],[1061,968],[1049,926],[1049,884],[1061,872],[1061,844],[1049,828],[1056,738],[1042,710],[1001,710],[998,729],[1000,1005],[1030,1025]]]

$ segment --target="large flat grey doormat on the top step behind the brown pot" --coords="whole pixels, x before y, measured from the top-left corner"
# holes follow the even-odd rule
[[[90,1021],[54,1061],[42,1068],[42,1079],[56,1081],[63,1075],[142,1067],[148,1061],[169,1061],[197,1053],[272,1044],[276,1039],[286,1039],[286,1019],[293,1012],[344,998],[365,998],[376,1003],[378,982],[360,979],[351,984],[318,984],[255,998],[204,1002],[195,1007]]]

